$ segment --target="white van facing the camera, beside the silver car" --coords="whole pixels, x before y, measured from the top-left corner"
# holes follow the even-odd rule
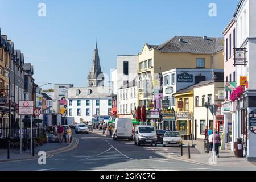
[[[158,138],[156,137],[155,127],[154,126],[143,126],[139,125],[135,128],[134,133],[134,144],[151,144],[157,145]]]

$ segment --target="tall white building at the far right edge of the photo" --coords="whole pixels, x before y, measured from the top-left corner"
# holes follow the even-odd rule
[[[237,85],[240,76],[247,76],[248,87],[243,97],[237,101],[236,121],[233,125],[233,142],[242,137],[245,144],[246,158],[256,160],[256,134],[251,131],[250,113],[256,109],[256,1],[240,0],[234,20],[236,22],[236,48],[246,48],[246,66],[236,66]],[[238,55],[237,55],[238,56]]]

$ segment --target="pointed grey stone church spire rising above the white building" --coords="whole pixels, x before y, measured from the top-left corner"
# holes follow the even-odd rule
[[[88,75],[88,86],[104,86],[104,75],[101,70],[100,56],[98,55],[98,47],[96,42],[96,48],[94,50],[92,68]]]

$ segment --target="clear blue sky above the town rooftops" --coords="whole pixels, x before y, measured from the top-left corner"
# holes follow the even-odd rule
[[[38,4],[46,4],[46,17]],[[217,16],[210,17],[209,3]],[[0,0],[2,34],[34,65],[35,82],[87,86],[97,38],[101,68],[110,74],[117,55],[137,54],[144,43],[175,35],[222,36],[238,0]],[[46,86],[49,88],[51,86]]]

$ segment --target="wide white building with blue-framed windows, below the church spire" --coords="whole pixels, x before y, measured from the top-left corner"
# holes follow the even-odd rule
[[[111,115],[112,100],[108,87],[88,87],[68,89],[68,117],[75,122],[108,122]]]

